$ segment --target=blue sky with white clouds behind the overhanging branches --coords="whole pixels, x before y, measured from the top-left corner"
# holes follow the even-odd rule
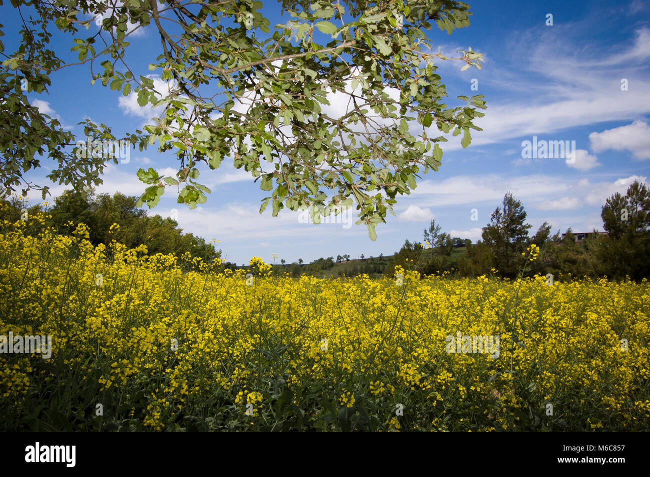
[[[398,196],[396,216],[377,227],[377,240],[367,229],[341,223],[302,223],[298,213],[281,211],[272,217],[270,207],[259,214],[266,192],[253,184],[250,173],[227,161],[215,171],[201,170],[201,183],[211,188],[207,203],[194,210],[176,203],[172,190],[149,213],[177,214],[184,231],[219,239],[229,261],[248,263],[253,255],[272,261],[272,254],[287,262],[302,258],[348,253],[390,255],[405,239],[422,239],[422,229],[435,217],[452,236],[480,239],[480,228],[489,222],[506,192],[521,200],[528,213],[530,233],[544,221],[552,232],[602,230],[601,207],[614,192],[624,193],[635,179],[650,175],[650,3],[633,0],[608,1],[482,1],[469,2],[471,25],[448,35],[435,28],[429,32],[443,53],[458,49],[484,53],[482,70],[460,71],[461,62],[437,62],[447,86],[448,105],[460,103],[456,96],[483,94],[484,118],[475,121],[484,131],[473,132],[472,144],[460,146],[460,136],[442,144],[445,154],[438,172],[423,175],[410,196]],[[275,2],[265,2],[271,25],[281,21]],[[552,14],[552,26],[546,25]],[[0,7],[5,25],[5,52],[14,51],[18,16],[5,3]],[[56,36],[57,51],[69,51],[72,38]],[[140,29],[131,38],[127,63],[136,73],[148,75],[148,64],[159,52],[154,27]],[[61,56],[66,58],[65,53]],[[73,55],[68,55],[75,59]],[[138,71],[139,68],[139,71]],[[471,90],[472,80],[478,90]],[[621,80],[627,79],[627,90]],[[476,81],[474,81],[476,84]],[[135,95],[96,83],[90,85],[88,66],[75,66],[55,73],[49,95],[30,94],[42,112],[59,118],[82,138],[77,122],[91,118],[125,133],[142,127],[155,115],[140,108]],[[435,135],[434,135],[435,136]],[[564,159],[523,159],[522,142],[533,140],[575,141],[575,162]],[[50,164],[27,177],[47,184]],[[138,168],[153,167],[170,174],[175,156],[155,148],[131,151],[128,164],[110,164],[97,192],[140,195]],[[64,186],[51,187],[54,195]],[[40,201],[37,192],[32,202]],[[176,211],[174,211],[176,209]],[[472,209],[478,220],[472,220]]]

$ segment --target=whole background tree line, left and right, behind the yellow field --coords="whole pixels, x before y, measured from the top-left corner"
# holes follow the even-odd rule
[[[66,191],[56,198],[51,207],[33,205],[25,209],[24,202],[15,196],[8,197],[0,191],[0,219],[16,222],[23,211],[28,214],[42,212],[43,220],[30,223],[26,233],[36,235],[45,227],[57,233],[70,235],[77,223],[89,227],[89,240],[93,245],[109,245],[115,239],[128,248],[145,244],[148,253],[172,253],[181,257],[189,253],[206,263],[220,258],[205,239],[192,233],[183,233],[172,218],[148,216],[138,207],[136,197],[117,192],[95,195],[92,192]],[[551,226],[544,222],[530,236],[526,224],[526,211],[512,194],[505,194],[502,204],[491,214],[489,224],[482,230],[482,239],[472,244],[469,239],[451,237],[441,231],[432,220],[423,231],[422,240],[406,239],[393,256],[365,257],[350,261],[349,254],[337,257],[320,257],[311,263],[303,260],[275,265],[275,272],[291,276],[311,275],[393,277],[395,267],[415,269],[423,276],[446,274],[454,277],[476,277],[495,274],[504,278],[516,277],[526,258],[522,255],[530,244],[539,246],[538,259],[526,268],[528,275],[552,274],[554,279],[579,277],[608,277],[611,279],[640,280],[650,276],[650,191],[645,184],[635,181],[625,195],[618,192],[605,201],[601,209],[606,233],[593,231],[586,239],[578,241],[567,229],[551,235]],[[4,223],[4,222],[3,222]],[[113,224],[119,224],[115,227]],[[224,262],[224,268],[236,270],[235,263]]]

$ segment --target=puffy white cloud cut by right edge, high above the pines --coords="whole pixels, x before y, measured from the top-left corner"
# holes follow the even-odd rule
[[[595,152],[627,149],[634,159],[650,159],[650,125],[636,120],[627,126],[606,129],[589,135],[591,149]]]

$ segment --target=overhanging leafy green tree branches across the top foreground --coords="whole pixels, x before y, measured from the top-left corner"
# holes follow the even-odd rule
[[[157,107],[144,131],[123,139],[140,151],[156,142],[158,151],[174,151],[178,170],[165,177],[140,169],[148,187],[138,204],[153,207],[167,187],[179,203],[204,203],[210,190],[199,175],[227,158],[268,191],[260,212],[269,204],[274,216],[310,207],[318,223],[356,202],[357,224],[367,225],[372,240],[376,224],[394,214],[396,194],[409,194],[421,172],[441,165],[446,139],[439,134],[462,135],[467,147],[470,130],[480,131],[474,118],[484,116],[477,109],[486,108],[482,95],[458,96],[466,104],[447,107],[434,64],[480,68],[482,54],[469,47],[448,58],[426,36],[435,25],[449,34],[469,25],[469,5],[460,1],[282,0],[276,5],[291,19],[273,27],[255,0],[12,5],[23,18],[21,43],[6,53],[0,42],[0,178],[10,191],[37,188],[45,198],[47,186],[23,178],[45,154],[55,162],[47,177],[75,190],[98,185],[105,164],[117,163],[114,155],[77,154],[73,133],[27,99],[72,66],[89,67],[91,83]],[[143,75],[125,52],[129,36],[147,26],[159,43],[148,49],[151,74]],[[56,29],[70,36],[76,62],[51,48]],[[118,139],[110,125],[79,124],[92,140]]]

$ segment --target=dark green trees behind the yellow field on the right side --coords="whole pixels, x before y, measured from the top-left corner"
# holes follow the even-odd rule
[[[482,230],[482,240],[465,240],[465,253],[454,253],[454,243],[440,226],[431,221],[424,240],[406,240],[395,253],[385,274],[392,276],[396,265],[416,268],[422,274],[448,274],[475,277],[496,274],[516,277],[526,263],[526,248],[539,246],[538,259],[527,267],[529,275],[552,274],[555,278],[608,277],[640,280],[650,276],[650,192],[645,184],[634,181],[625,195],[616,194],[601,209],[603,228],[595,229],[578,244],[571,228],[563,235],[551,235],[544,222],[536,233],[528,235],[526,211],[512,194],[504,196],[501,207],[491,214]],[[456,240],[456,242],[454,242]],[[430,244],[430,246],[428,245]],[[409,266],[411,264],[411,266]]]

